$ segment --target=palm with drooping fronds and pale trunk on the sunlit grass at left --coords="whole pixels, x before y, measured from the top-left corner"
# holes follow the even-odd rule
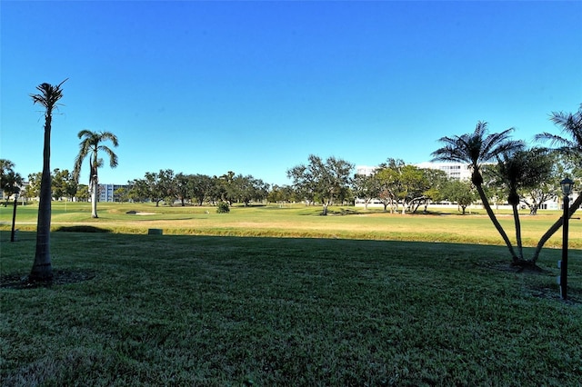
[[[97,170],[103,165],[103,159],[98,157],[98,152],[102,151],[109,155],[109,165],[112,168],[117,166],[117,155],[106,145],[101,143],[105,141],[111,141],[114,146],[117,146],[117,136],[111,132],[91,132],[90,130],[83,129],[79,134],[79,138],[82,139],[79,144],[79,154],[75,158],[75,167],[73,169],[73,177],[75,182],[79,181],[79,174],[81,173],[81,165],[85,157],[89,155],[89,189],[91,190],[91,216],[97,217],[97,191],[99,185],[99,177],[97,175]]]

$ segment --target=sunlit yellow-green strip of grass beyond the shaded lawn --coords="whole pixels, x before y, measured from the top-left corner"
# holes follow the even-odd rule
[[[341,210],[344,213],[341,215]],[[346,211],[349,210],[349,211]],[[35,231],[37,204],[19,206],[17,228]],[[53,203],[52,225],[59,227],[91,225],[113,233],[147,233],[159,228],[166,234],[316,237],[414,242],[453,242],[502,244],[503,241],[485,211],[466,216],[455,213],[406,214],[364,211],[354,207],[333,207],[329,216],[319,216],[320,207],[293,204],[233,207],[230,213],[216,213],[214,207],[159,206],[150,203],[99,203],[98,219],[91,218],[90,203]],[[356,212],[356,213],[354,213]],[[141,214],[139,214],[141,213]],[[540,212],[522,216],[524,244],[535,246],[539,237],[554,223],[560,212]],[[514,237],[513,218],[498,214],[510,238]],[[9,230],[12,208],[0,206],[0,230]],[[547,243],[561,247],[558,232]],[[570,247],[582,249],[582,222],[570,222]]]

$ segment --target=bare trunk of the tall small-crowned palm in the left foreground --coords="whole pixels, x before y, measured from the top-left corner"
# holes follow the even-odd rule
[[[50,281],[53,278],[51,264],[51,122],[50,113],[45,114],[45,144],[43,148],[43,174],[40,184],[40,202],[36,223],[35,263],[30,272],[32,281]]]

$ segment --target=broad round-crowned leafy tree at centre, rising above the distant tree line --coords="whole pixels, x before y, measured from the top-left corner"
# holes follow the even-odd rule
[[[309,164],[297,165],[287,170],[287,177],[293,179],[296,189],[307,198],[313,198],[323,205],[323,215],[335,200],[346,197],[351,184],[354,164],[336,157],[328,157],[326,162],[314,155],[308,157]],[[307,199],[308,200],[308,199]]]

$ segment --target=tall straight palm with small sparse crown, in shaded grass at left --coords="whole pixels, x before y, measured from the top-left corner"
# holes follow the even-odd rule
[[[43,148],[43,173],[40,184],[40,202],[38,203],[38,218],[36,222],[35,263],[29,278],[32,281],[50,281],[53,278],[51,263],[51,128],[53,112],[58,107],[58,101],[63,97],[60,84],[39,84],[36,86],[39,94],[30,94],[33,104],[45,108],[45,144]]]

